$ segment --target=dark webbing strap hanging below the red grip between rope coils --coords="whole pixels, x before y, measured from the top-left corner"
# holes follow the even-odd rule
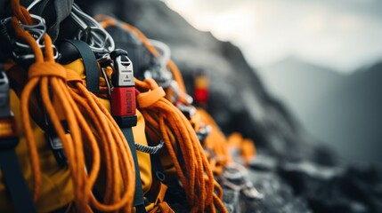
[[[139,172],[138,157],[136,155],[134,134],[133,134],[133,130],[132,130],[132,127],[136,125],[137,117],[136,116],[118,117],[118,119],[116,119],[116,121],[117,121],[119,127],[122,130],[122,133],[124,134],[124,136],[127,140],[127,144],[130,147],[131,154],[133,155],[133,159],[134,159],[135,193],[134,193],[133,205],[135,207],[135,212],[145,213],[146,209],[144,208],[141,174]]]

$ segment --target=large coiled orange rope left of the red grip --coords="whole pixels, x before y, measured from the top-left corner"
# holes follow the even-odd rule
[[[20,0],[12,1],[12,11],[12,27],[16,36],[28,43],[36,59],[28,69],[28,83],[20,95],[21,117],[32,165],[35,201],[40,195],[43,182],[28,105],[32,94],[37,93],[35,88],[39,86],[45,111],[61,139],[68,158],[77,211],[90,212],[93,207],[100,211],[123,209],[131,212],[135,185],[134,162],[118,124],[100,100],[85,89],[79,75],[55,63],[53,44],[48,35],[45,35],[44,57],[35,39],[20,27],[20,23],[33,24],[28,11],[20,6]],[[69,134],[65,132],[61,121],[68,122]],[[93,132],[97,132],[97,137]],[[86,153],[85,148],[88,149]],[[104,163],[107,165],[104,196],[106,204],[97,201],[92,192],[100,174],[101,155],[106,157]],[[85,157],[90,157],[91,165],[86,164]]]

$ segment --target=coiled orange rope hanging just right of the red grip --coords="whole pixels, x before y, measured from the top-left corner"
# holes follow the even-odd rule
[[[161,134],[159,137],[165,141],[187,201],[191,205],[191,211],[215,211],[216,205],[220,211],[226,212],[220,196],[215,194],[215,191],[221,193],[220,185],[215,184],[207,157],[191,123],[176,106],[164,98],[165,92],[154,80],[146,79],[142,82],[135,79],[135,86],[141,91],[137,96],[137,102],[146,126],[159,127]],[[158,119],[155,119],[157,116]],[[176,147],[173,146],[168,129],[177,139],[176,143],[180,149],[178,151],[183,156],[184,165],[181,165],[177,158]]]

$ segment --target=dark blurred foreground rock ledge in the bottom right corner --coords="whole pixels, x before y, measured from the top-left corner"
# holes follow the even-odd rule
[[[259,154],[249,174],[264,193],[248,204],[252,212],[382,212],[380,168],[276,162]]]

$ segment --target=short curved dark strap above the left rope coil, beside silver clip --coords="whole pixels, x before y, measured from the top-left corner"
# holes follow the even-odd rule
[[[71,43],[75,46],[84,61],[87,90],[93,93],[100,91],[100,71],[98,69],[97,59],[95,59],[89,44],[83,41],[69,39],[64,42]]]

